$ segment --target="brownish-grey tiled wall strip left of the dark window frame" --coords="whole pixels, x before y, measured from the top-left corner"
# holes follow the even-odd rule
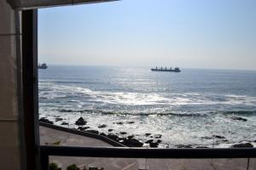
[[[24,169],[21,151],[18,72],[20,12],[0,1],[0,169]]]

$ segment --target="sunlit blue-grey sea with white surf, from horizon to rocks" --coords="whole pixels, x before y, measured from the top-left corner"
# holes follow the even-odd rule
[[[160,147],[255,144],[256,71],[181,70],[49,65],[38,70],[39,116],[71,128],[82,116],[143,142],[161,134]]]

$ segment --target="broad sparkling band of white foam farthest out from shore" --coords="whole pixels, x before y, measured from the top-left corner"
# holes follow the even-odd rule
[[[51,88],[51,90],[47,90],[49,94],[39,94],[39,96],[58,99],[60,97],[62,98],[63,94],[67,94],[67,97],[75,96],[83,100],[86,99],[84,101],[107,105],[256,105],[256,97],[235,94],[168,94],[114,92],[110,90],[96,91],[90,88],[60,84],[51,84],[47,88]],[[44,89],[41,91],[44,91]],[[61,96],[57,94],[61,94]]]

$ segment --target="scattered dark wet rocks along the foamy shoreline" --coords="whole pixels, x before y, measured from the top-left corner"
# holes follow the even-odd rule
[[[236,117],[236,120],[239,118]],[[241,120],[240,121],[245,121]],[[55,122],[49,121],[47,117],[42,117],[39,119],[39,122],[44,122],[48,124],[55,124],[55,122],[61,122],[62,126],[67,126],[68,122],[65,122],[61,117],[55,117]],[[121,131],[119,133],[114,133],[114,129],[109,128],[108,133],[101,133],[98,130],[92,129],[89,126],[86,126],[87,121],[83,117],[79,117],[79,119],[74,122],[75,125],[78,127],[75,128],[76,130],[83,131],[86,133],[95,133],[98,135],[102,135],[107,137],[108,139],[113,139],[119,144],[124,144],[127,147],[148,147],[148,148],[158,148],[162,143],[162,134],[152,134],[152,133],[145,133],[144,136],[148,139],[146,141],[142,141],[142,139],[137,139],[135,135],[128,134],[125,131]],[[124,124],[133,124],[134,122],[115,122],[118,125]],[[108,128],[107,124],[100,124],[98,125],[99,129]],[[225,139],[224,136],[221,135],[212,135],[202,137],[201,139],[216,139],[216,144],[229,144],[229,140]],[[256,143],[254,141],[240,141],[238,144],[230,144],[230,148],[253,148],[253,144]],[[215,145],[216,145],[215,144]],[[165,148],[169,148],[169,145],[166,145]],[[182,149],[182,148],[209,148],[208,146],[201,145],[201,144],[176,144],[174,148]]]

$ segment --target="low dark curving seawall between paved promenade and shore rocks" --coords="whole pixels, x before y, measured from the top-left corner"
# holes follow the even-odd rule
[[[48,124],[45,122],[39,122],[39,125],[42,127],[49,127],[49,128],[53,128],[55,130],[60,130],[60,131],[67,132],[67,133],[74,133],[74,134],[79,134],[81,136],[85,136],[85,137],[89,137],[89,138],[93,138],[93,139],[99,139],[99,140],[102,140],[103,142],[111,144],[115,147],[127,147],[124,144],[120,144],[119,142],[114,141],[113,139],[109,139],[109,138],[99,135],[99,134],[87,133],[87,132],[83,132],[83,131],[79,131],[79,130],[67,128],[67,127],[60,127],[60,126]]]

